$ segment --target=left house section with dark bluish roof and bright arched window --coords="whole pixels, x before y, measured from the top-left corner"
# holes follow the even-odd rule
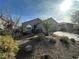
[[[42,22],[41,19],[36,18],[30,21],[26,21],[24,23],[22,23],[22,27],[23,27],[23,31],[28,31],[34,28],[34,26],[40,24]]]

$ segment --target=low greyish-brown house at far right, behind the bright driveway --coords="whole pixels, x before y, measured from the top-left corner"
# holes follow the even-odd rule
[[[72,24],[72,23],[59,23],[58,24],[58,31],[66,31],[72,33],[79,33],[79,25]]]

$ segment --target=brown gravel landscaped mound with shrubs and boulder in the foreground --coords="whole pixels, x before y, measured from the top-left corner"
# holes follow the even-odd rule
[[[78,41],[57,35],[37,35],[21,45],[16,59],[76,59],[78,57]]]

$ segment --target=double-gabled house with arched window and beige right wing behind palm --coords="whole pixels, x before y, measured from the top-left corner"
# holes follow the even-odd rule
[[[50,17],[46,20],[41,20],[39,18],[36,18],[22,23],[23,31],[32,30],[36,26],[37,27],[36,29],[40,29],[42,32],[46,32],[46,29],[43,25],[44,22],[50,23],[48,30],[49,32],[54,32],[57,30],[58,23],[52,17]]]

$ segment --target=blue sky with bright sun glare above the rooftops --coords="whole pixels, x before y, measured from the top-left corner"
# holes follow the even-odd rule
[[[0,10],[12,17],[21,16],[20,22],[49,17],[71,22],[70,15],[79,10],[79,0],[0,0]]]

